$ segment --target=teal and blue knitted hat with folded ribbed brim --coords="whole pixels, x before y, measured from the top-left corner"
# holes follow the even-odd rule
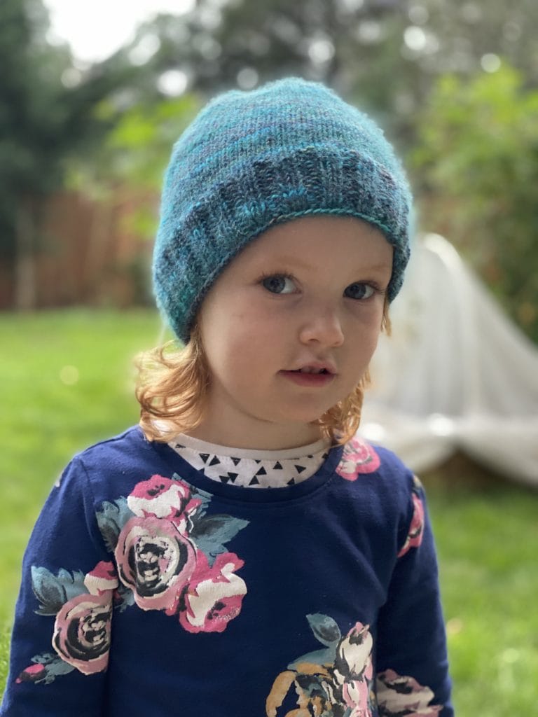
[[[364,219],[394,247],[388,298],[409,258],[410,189],[377,125],[332,90],[288,78],[217,96],[172,151],[154,251],[159,309],[189,340],[230,260],[275,224],[307,214]]]

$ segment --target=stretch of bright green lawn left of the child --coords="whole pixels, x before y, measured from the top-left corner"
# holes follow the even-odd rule
[[[158,343],[154,312],[0,314],[0,620],[22,550],[72,454],[138,421],[133,357]]]

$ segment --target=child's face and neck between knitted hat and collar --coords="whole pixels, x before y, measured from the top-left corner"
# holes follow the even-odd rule
[[[196,435],[260,449],[316,440],[312,422],[369,365],[391,273],[383,234],[350,217],[302,217],[248,244],[199,313],[212,381]]]

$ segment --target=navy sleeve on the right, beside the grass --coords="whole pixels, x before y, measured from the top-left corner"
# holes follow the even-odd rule
[[[380,717],[453,716],[438,565],[417,478],[389,596],[379,612],[376,663]]]

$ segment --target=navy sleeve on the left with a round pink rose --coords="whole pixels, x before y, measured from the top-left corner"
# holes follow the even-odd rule
[[[2,716],[101,715],[116,586],[90,481],[75,458],[24,555]]]

